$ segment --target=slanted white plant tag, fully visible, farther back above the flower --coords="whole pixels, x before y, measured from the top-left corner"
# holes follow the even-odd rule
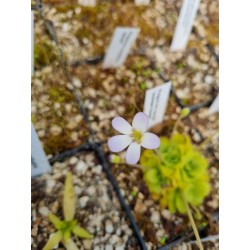
[[[117,27],[104,58],[103,68],[118,68],[126,60],[140,29]]]

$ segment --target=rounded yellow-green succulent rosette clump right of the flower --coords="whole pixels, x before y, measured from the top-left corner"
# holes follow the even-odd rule
[[[143,179],[162,207],[168,207],[171,213],[186,213],[183,198],[197,206],[210,192],[208,161],[193,147],[188,135],[175,133],[160,141],[158,154],[149,150],[142,154]]]

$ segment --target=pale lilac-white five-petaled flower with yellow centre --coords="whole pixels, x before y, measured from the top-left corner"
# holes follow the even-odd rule
[[[135,115],[132,126],[122,117],[117,116],[112,120],[115,130],[122,133],[109,139],[108,146],[112,152],[120,152],[127,146],[126,162],[136,164],[141,155],[141,146],[147,149],[156,149],[160,146],[160,139],[153,133],[146,132],[148,129],[149,118],[139,112]]]

